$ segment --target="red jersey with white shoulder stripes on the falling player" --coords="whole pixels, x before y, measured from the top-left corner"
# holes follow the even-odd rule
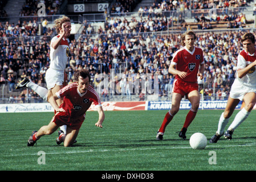
[[[56,93],[59,98],[64,97],[63,104],[60,105],[71,118],[77,118],[85,114],[92,102],[96,106],[101,106],[100,97],[95,89],[89,85],[86,93],[79,93],[78,84],[70,84]]]

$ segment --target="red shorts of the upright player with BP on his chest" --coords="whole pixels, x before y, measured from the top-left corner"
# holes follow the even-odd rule
[[[182,80],[174,80],[173,82],[173,92],[181,94],[182,97],[193,90],[198,90],[197,82],[186,82]]]

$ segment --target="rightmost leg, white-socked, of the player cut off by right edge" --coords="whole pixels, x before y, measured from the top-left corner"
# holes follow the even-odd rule
[[[237,127],[241,125],[241,123],[249,116],[256,103],[256,93],[246,93],[243,97],[243,102],[245,102],[245,107],[243,107],[243,109],[241,109],[237,115],[235,115],[234,121],[231,123],[224,135],[224,137],[227,139],[232,139],[234,130],[237,129]]]

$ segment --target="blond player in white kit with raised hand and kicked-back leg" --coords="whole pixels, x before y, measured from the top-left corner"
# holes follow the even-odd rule
[[[16,89],[27,87],[34,90],[45,101],[48,101],[48,98],[63,88],[64,72],[70,52],[67,41],[71,32],[70,18],[62,16],[56,19],[54,23],[58,35],[52,38],[50,44],[50,67],[47,69],[45,77],[47,89],[35,84],[28,78],[24,78],[16,86]],[[59,99],[56,102],[60,106],[63,103],[63,99]],[[66,131],[65,126],[63,126],[62,130]]]

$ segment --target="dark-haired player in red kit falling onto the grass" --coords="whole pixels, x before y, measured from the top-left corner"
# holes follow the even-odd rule
[[[58,131],[59,137],[56,142],[57,144],[64,142],[64,147],[72,146],[85,119],[86,111],[90,108],[92,102],[94,102],[99,113],[99,120],[95,125],[102,127],[101,124],[105,115],[99,95],[89,84],[91,80],[90,73],[86,69],[81,69],[74,73],[74,78],[75,83],[65,86],[49,98],[56,114],[47,126],[42,126],[38,131],[33,131],[27,146],[34,146],[36,140],[43,135],[51,135],[62,125],[67,125],[67,133],[65,135],[62,130]],[[59,98],[64,98],[60,107],[56,103]]]

